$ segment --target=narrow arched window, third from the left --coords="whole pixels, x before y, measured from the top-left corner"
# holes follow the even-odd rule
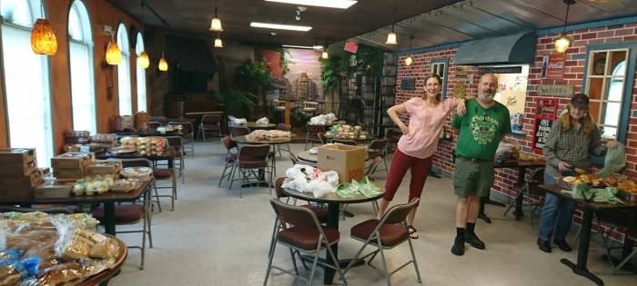
[[[117,27],[117,46],[122,51],[122,62],[117,64],[117,86],[119,91],[119,114],[133,114],[133,100],[130,94],[130,46],[126,25]]]

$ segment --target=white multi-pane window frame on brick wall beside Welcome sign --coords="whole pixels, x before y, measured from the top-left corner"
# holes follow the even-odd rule
[[[612,54],[613,53],[625,53],[625,57],[623,60],[623,68],[624,71],[621,75],[615,75],[613,74],[612,69]],[[600,128],[600,131],[602,132],[602,135],[604,137],[607,137],[609,139],[613,139],[613,140],[618,140],[619,139],[619,135],[620,135],[620,124],[621,124],[621,119],[622,116],[618,116],[617,119],[617,123],[615,124],[605,124],[605,112],[606,112],[606,106],[608,104],[619,104],[620,108],[622,107],[623,100],[624,100],[624,96],[623,96],[623,90],[624,87],[626,86],[626,73],[628,72],[628,63],[629,63],[629,49],[628,48],[622,48],[622,49],[608,49],[608,50],[594,50],[589,52],[589,58],[594,58],[594,54],[601,54],[601,53],[605,53],[606,54],[606,64],[604,65],[604,73],[601,75],[595,74],[595,61],[589,61],[589,66],[588,66],[588,75],[586,76],[586,91],[585,94],[589,95],[590,98],[590,102],[591,104],[600,104],[600,108],[598,110],[597,114],[591,114],[591,116],[593,117],[593,120],[596,121],[597,126]],[[619,62],[620,64],[622,62]],[[619,64],[618,64],[619,65]],[[602,79],[602,94],[600,95],[600,99],[593,99],[591,98],[591,80],[593,79]],[[610,85],[612,84],[612,81],[618,81],[621,80],[622,81],[622,87],[619,89],[622,92],[622,95],[620,96],[620,100],[619,101],[611,101],[609,100],[609,91],[610,91]],[[619,112],[619,111],[618,111]],[[614,128],[615,129],[615,134],[614,136],[609,136],[607,134],[603,133],[603,130],[605,127],[610,127],[610,128]]]

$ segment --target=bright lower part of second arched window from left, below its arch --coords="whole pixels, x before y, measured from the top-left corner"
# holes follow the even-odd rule
[[[88,46],[76,42],[69,43],[71,56],[71,103],[73,104],[73,128],[75,130],[96,130],[96,108],[91,83],[91,65]]]

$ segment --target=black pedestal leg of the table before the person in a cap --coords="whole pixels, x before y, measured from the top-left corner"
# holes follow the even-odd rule
[[[561,263],[570,267],[573,273],[586,277],[595,282],[597,285],[603,285],[604,282],[602,279],[593,275],[588,269],[586,269],[586,262],[589,258],[589,243],[591,242],[591,224],[592,209],[584,206],[584,214],[581,220],[580,250],[577,253],[577,264],[565,258],[561,259]]]

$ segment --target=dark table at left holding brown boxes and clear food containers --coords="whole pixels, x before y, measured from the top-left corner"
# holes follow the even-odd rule
[[[135,202],[142,195],[150,192],[150,183],[142,182],[136,190],[130,192],[105,192],[95,195],[71,195],[68,198],[58,199],[0,199],[0,205],[21,205],[30,207],[32,204],[81,204],[81,203],[104,203],[104,228],[105,232],[115,235],[115,203]],[[148,197],[145,199],[148,200]]]

